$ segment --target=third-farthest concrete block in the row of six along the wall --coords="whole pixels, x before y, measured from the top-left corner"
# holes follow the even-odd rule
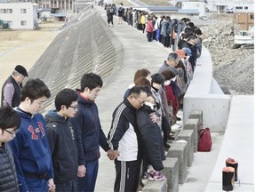
[[[187,166],[191,167],[193,161],[194,161],[194,136],[195,132],[194,130],[182,130],[179,132],[176,140],[186,140],[187,141],[187,146],[188,152],[186,152],[187,156]],[[187,151],[187,150],[186,150]]]

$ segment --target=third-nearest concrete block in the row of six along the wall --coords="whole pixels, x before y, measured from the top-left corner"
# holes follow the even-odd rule
[[[183,184],[187,177],[187,157],[186,157],[187,143],[172,142],[171,148],[169,148],[167,156],[178,158],[179,165],[179,184]]]

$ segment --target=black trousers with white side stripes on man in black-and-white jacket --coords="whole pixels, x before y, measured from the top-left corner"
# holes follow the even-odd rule
[[[125,162],[115,160],[116,180],[115,192],[137,191],[140,181],[141,160]]]

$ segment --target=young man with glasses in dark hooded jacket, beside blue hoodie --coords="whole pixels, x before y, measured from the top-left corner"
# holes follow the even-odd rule
[[[56,192],[76,191],[77,146],[74,128],[68,118],[76,115],[77,98],[75,91],[61,90],[55,97],[56,109],[50,110],[45,116]]]

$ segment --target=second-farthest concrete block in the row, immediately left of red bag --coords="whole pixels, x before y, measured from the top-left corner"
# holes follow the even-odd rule
[[[184,124],[184,130],[193,130],[194,131],[194,152],[196,153],[198,147],[198,127],[199,119],[188,119]]]

